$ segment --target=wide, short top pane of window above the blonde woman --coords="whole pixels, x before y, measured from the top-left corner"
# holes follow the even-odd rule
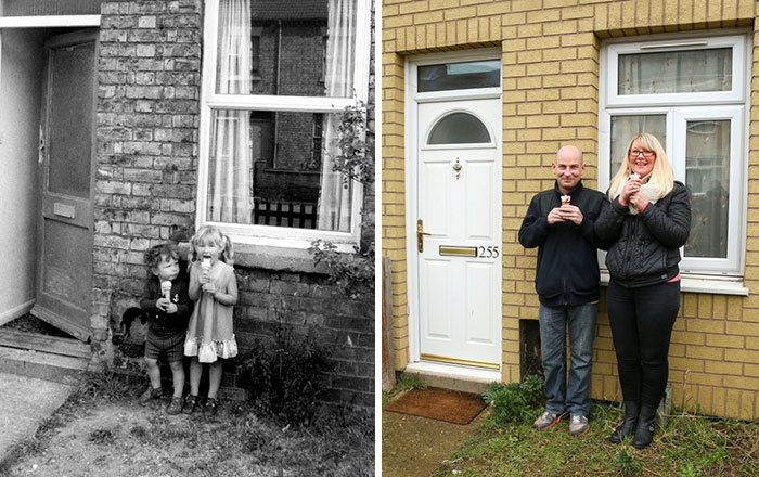
[[[619,55],[618,94],[730,91],[733,49]]]

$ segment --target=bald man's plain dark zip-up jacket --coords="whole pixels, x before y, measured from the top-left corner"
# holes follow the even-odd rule
[[[549,212],[562,205],[562,192],[555,184],[532,197],[519,229],[519,243],[538,248],[535,288],[540,302],[549,307],[583,305],[599,300],[600,246],[593,225],[606,197],[586,189],[582,182],[569,192],[571,205],[580,208],[582,223],[557,222],[549,225]]]

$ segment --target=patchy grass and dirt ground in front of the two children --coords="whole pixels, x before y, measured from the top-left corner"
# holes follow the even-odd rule
[[[282,428],[249,411],[170,416],[166,403],[100,402],[80,409],[11,476],[373,475],[373,449],[319,431]],[[362,442],[369,447],[369,441]]]

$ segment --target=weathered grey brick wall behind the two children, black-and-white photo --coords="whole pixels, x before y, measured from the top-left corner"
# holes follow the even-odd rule
[[[103,2],[100,35],[92,348],[95,364],[110,364],[123,362],[113,337],[142,293],[143,253],[194,225],[202,1]],[[373,99],[370,106],[373,115]],[[364,207],[373,209],[371,194],[369,188]],[[364,218],[365,241],[373,220]],[[323,399],[372,408],[373,297],[349,299],[313,271],[253,268],[244,256],[237,263],[240,347],[271,338],[278,320],[300,334],[314,327],[334,346],[336,368],[323,376]],[[229,364],[223,385],[235,386]]]

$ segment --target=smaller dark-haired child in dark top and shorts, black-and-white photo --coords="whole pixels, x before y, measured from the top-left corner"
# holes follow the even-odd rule
[[[179,253],[173,244],[157,245],[145,254],[150,278],[142,293],[140,308],[147,314],[145,364],[150,387],[140,396],[146,404],[163,395],[158,358],[166,354],[171,368],[173,397],[168,414],[182,411],[184,388],[184,338],[193,304],[188,296],[186,269],[181,270]]]

